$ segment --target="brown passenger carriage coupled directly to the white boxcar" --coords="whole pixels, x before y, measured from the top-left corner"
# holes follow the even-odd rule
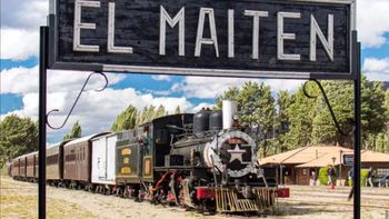
[[[69,141],[63,146],[63,180],[87,185],[91,181],[92,139],[103,133],[97,133]]]

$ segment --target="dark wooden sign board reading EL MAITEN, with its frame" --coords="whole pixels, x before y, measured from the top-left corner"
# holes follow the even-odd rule
[[[351,78],[355,0],[54,0],[50,68]]]

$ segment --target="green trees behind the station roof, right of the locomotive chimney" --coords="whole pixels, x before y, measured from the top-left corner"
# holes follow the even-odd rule
[[[221,100],[231,99],[240,106],[240,120],[257,138],[261,156],[305,147],[308,145],[340,145],[353,147],[353,84],[349,81],[321,81],[342,135],[335,127],[329,108],[319,88],[307,84],[297,92],[271,92],[263,82],[247,82],[241,88],[231,87],[216,98],[216,109]],[[362,79],[361,129],[362,149],[389,152],[389,90],[382,82]]]

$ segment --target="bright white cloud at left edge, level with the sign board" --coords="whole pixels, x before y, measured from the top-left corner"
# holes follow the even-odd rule
[[[1,28],[0,34],[1,59],[26,60],[30,57],[38,57],[38,31]]]

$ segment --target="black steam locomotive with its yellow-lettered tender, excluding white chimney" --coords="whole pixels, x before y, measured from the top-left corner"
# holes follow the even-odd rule
[[[222,212],[273,205],[253,139],[221,112],[173,115],[119,136],[117,182],[124,196]]]

